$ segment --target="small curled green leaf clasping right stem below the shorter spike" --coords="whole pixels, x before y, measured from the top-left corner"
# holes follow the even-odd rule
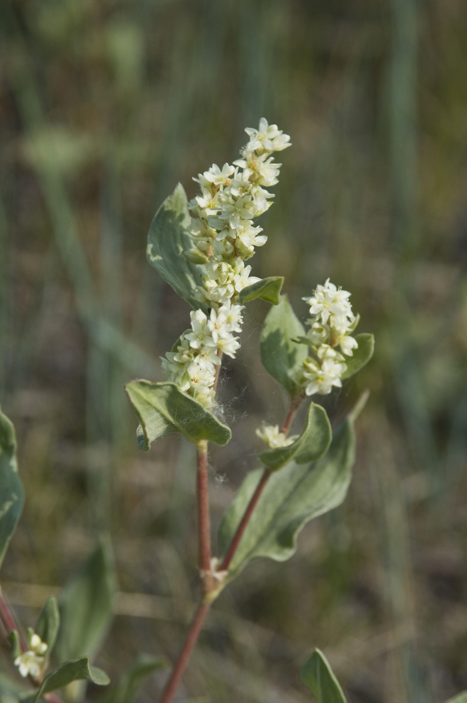
[[[268,468],[277,470],[294,458],[297,464],[319,459],[331,444],[331,423],[322,406],[312,403],[308,408],[305,427],[300,437],[289,446],[265,449],[258,454],[259,460]]]

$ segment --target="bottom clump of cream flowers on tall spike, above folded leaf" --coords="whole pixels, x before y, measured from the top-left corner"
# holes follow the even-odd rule
[[[191,330],[184,332],[173,352],[166,352],[162,368],[169,380],[176,382],[185,393],[193,396],[205,408],[214,404],[214,384],[222,354],[235,357],[239,349],[234,332],[242,331],[242,305],[230,300],[211,309],[209,317],[202,310],[190,312]]]

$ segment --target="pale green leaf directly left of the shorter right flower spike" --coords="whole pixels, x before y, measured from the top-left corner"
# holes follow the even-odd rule
[[[305,330],[302,323],[292,310],[287,297],[282,295],[277,307],[272,307],[266,315],[261,330],[261,361],[265,370],[284,386],[291,396],[301,391],[293,377],[308,356],[308,346],[292,340],[303,335]]]

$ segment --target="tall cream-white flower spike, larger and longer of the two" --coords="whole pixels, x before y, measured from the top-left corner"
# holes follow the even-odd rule
[[[209,304],[210,315],[192,311],[191,330],[183,333],[172,352],[166,353],[162,366],[169,380],[178,384],[210,408],[214,402],[216,367],[222,354],[235,356],[242,331],[242,306],[236,304],[243,288],[260,280],[250,276],[251,266],[244,262],[254,254],[254,247],[265,244],[267,237],[252,220],[272,203],[272,193],[265,190],[277,183],[281,164],[272,152],[291,146],[288,134],[276,124],[260,120],[258,129],[246,128],[249,142],[240,150],[241,159],[222,169],[213,164],[194,179],[201,194],[190,201],[192,217],[190,235],[193,249],[185,255],[204,263],[203,285],[197,290],[200,303]]]

